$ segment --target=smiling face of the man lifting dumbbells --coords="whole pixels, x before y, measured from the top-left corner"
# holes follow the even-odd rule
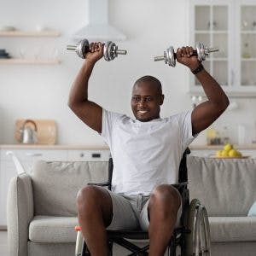
[[[136,119],[148,122],[160,118],[160,106],[164,102],[164,95],[154,81],[141,81],[133,86],[131,109]]]

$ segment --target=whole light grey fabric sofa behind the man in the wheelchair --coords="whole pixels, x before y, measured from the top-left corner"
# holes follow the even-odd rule
[[[187,157],[190,200],[207,207],[212,255],[256,255],[256,160]],[[108,179],[108,162],[38,161],[8,192],[9,256],[74,255],[76,195]],[[124,255],[116,249],[114,255]]]

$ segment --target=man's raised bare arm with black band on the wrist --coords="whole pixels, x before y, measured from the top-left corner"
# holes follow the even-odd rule
[[[197,56],[191,56],[192,53],[193,48],[188,46],[177,50],[177,61],[194,71],[207,96],[207,101],[195,107],[191,115],[192,132],[195,135],[212,125],[224,113],[230,102],[218,82],[201,67]]]

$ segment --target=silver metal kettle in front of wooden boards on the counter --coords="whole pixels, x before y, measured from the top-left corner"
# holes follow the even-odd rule
[[[27,125],[29,123],[34,126],[33,129],[30,127],[30,125]],[[25,144],[38,143],[37,131],[38,131],[38,127],[36,123],[31,119],[26,119],[20,129],[20,143],[25,143]]]

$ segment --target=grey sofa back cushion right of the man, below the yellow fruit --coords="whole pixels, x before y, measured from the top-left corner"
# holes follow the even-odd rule
[[[209,216],[247,216],[256,200],[256,159],[188,155],[187,166],[190,199],[198,198]]]

